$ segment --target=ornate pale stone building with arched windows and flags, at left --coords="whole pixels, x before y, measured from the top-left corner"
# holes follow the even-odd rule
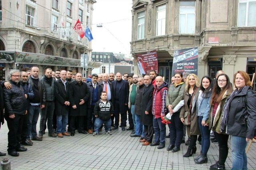
[[[95,2],[0,0],[0,73],[7,75],[10,69],[26,71],[33,65],[39,66],[41,75],[47,67],[81,71],[80,55],[90,56],[92,48],[73,27],[79,19],[83,29],[92,28]]]

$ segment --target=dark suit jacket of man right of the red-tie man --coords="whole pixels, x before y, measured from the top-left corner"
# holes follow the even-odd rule
[[[119,104],[124,107],[120,107],[120,112],[126,112],[128,109],[128,102],[129,102],[129,83],[125,80],[121,80],[120,89],[116,89],[116,80],[112,82],[113,85],[113,96],[115,97],[116,93],[119,95]],[[113,98],[114,98],[113,97]],[[115,100],[112,100],[115,105]],[[127,106],[126,106],[126,105]]]

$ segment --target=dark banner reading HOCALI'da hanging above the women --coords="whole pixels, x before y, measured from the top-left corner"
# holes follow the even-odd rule
[[[198,47],[174,51],[172,76],[176,72],[198,74]]]

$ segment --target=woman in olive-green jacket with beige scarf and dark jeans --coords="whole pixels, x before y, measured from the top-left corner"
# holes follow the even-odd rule
[[[180,110],[173,113],[175,108],[181,100],[185,91],[185,84],[183,82],[182,73],[176,72],[174,75],[174,84],[170,85],[168,94],[166,96],[166,107],[172,115],[171,123],[168,124],[170,128],[170,144],[167,150],[172,152],[178,152],[180,150],[180,144],[183,137],[183,124],[180,121]]]

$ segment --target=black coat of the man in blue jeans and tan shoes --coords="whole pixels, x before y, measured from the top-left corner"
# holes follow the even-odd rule
[[[69,83],[66,82],[66,91],[69,91]],[[65,86],[61,79],[58,79],[54,83],[54,94],[55,94],[55,113],[57,116],[67,115],[69,106],[66,106],[65,101],[69,101],[69,94],[66,93]]]

